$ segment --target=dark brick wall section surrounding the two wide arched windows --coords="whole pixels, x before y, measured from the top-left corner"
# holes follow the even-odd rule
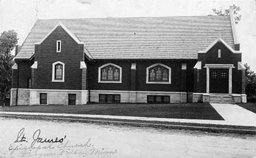
[[[98,83],[98,67],[105,65],[106,63],[114,63],[122,67],[122,83]],[[184,78],[184,86],[189,85],[190,91],[193,90],[193,73],[191,72],[191,66],[194,66],[196,61],[189,63],[187,65],[188,73]],[[132,74],[131,64],[136,63],[136,70]],[[155,63],[162,63],[171,68],[171,84],[146,84],[146,69]],[[89,89],[90,90],[132,90],[132,91],[170,91],[179,92],[181,88],[181,78],[182,78],[182,63],[179,61],[129,61],[129,60],[105,60],[105,61],[95,61],[88,63],[88,78],[89,78]],[[136,77],[136,79],[134,79]],[[187,81],[186,81],[186,78]],[[135,80],[135,84],[131,85],[131,80]],[[183,91],[186,91],[186,87],[183,87]]]

